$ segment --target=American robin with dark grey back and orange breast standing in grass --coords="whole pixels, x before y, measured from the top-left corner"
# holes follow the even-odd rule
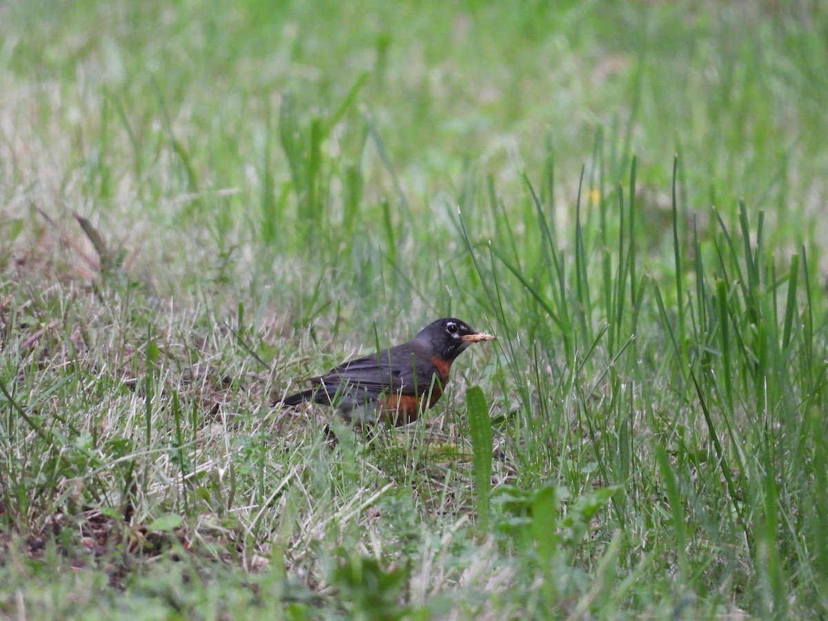
[[[494,340],[494,336],[472,330],[459,319],[438,319],[407,343],[311,378],[313,388],[285,397],[281,404],[312,401],[338,407],[348,422],[370,424],[384,419],[395,426],[407,425],[440,398],[455,358],[482,340]]]

